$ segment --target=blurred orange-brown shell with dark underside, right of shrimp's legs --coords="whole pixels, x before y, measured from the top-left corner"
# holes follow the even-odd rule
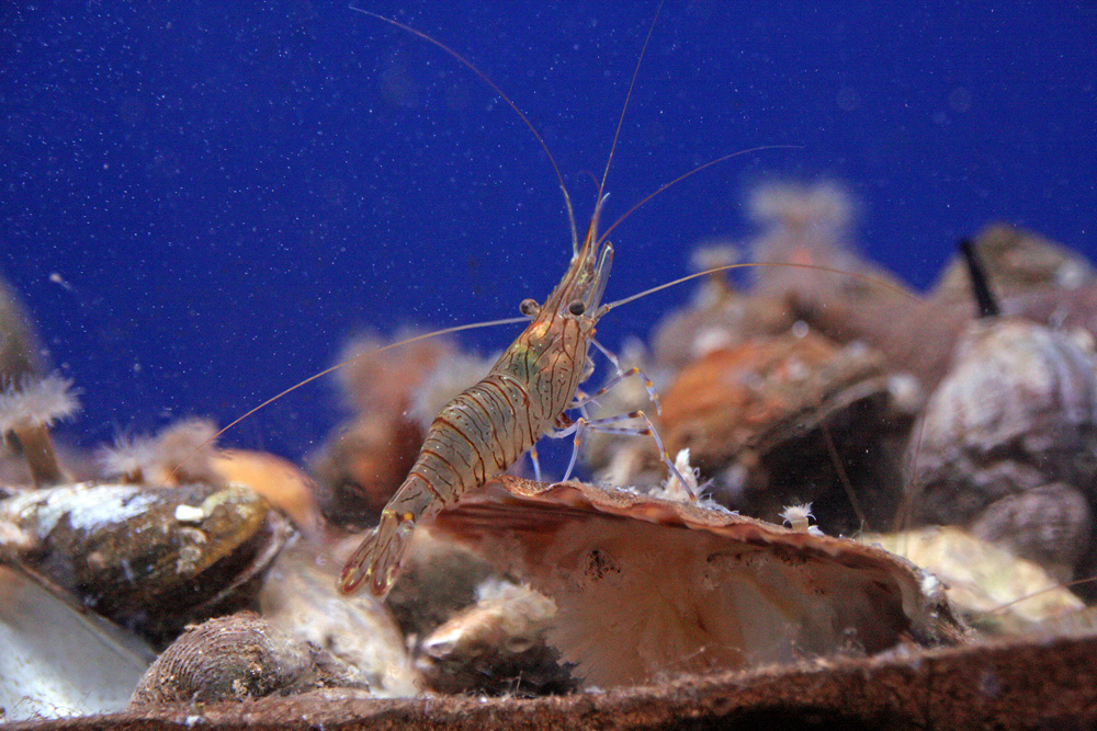
[[[852,532],[886,522],[900,501],[886,488],[900,483],[896,437],[913,416],[897,409],[894,384],[863,345],[811,331],[757,338],[683,368],[658,426],[670,454],[689,448],[716,477],[721,503],[778,521],[783,506],[814,502],[825,529]],[[870,514],[858,514],[844,479]]]

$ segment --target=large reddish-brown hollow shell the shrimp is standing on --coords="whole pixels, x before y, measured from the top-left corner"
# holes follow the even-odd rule
[[[434,525],[556,603],[550,641],[587,685],[959,637],[907,561],[715,505],[502,477]]]

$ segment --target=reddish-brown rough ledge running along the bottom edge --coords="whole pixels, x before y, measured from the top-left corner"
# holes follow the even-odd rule
[[[375,699],[319,690],[5,729],[1086,729],[1097,728],[1097,636],[1026,638],[868,659],[686,676],[548,698]]]

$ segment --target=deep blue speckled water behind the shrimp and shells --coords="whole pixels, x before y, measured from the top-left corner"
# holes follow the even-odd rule
[[[589,215],[654,3],[369,2],[465,54]],[[1097,245],[1097,3],[669,1],[609,174],[608,297],[750,233],[760,181],[846,182],[866,252],[918,287],[994,220]],[[83,389],[68,438],[220,423],[365,328],[509,317],[569,255],[547,159],[438,48],[324,2],[7,2],[0,267]],[[603,320],[646,335],[688,288]],[[516,329],[470,336],[502,347]],[[917,338],[917,333],[912,333]],[[327,380],[229,443],[299,457]]]

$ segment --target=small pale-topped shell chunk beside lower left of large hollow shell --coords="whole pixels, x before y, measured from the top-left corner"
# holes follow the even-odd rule
[[[547,643],[552,599],[527,586],[489,580],[479,601],[423,640],[416,667],[439,693],[544,695],[576,685]]]

